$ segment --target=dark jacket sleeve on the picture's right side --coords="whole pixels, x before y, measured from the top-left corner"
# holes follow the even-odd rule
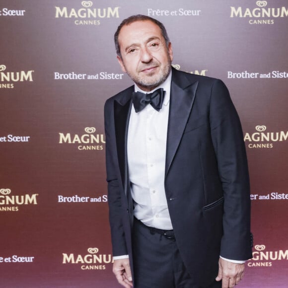
[[[220,255],[227,259],[252,257],[250,185],[247,156],[238,114],[228,89],[216,80],[211,89],[210,126],[224,195]]]

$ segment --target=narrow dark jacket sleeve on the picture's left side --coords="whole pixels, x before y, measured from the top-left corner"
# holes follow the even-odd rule
[[[123,202],[121,195],[124,193],[120,174],[118,172],[117,148],[115,139],[113,101],[108,99],[104,107],[105,141],[106,141],[106,172],[108,183],[109,220],[113,256],[127,255],[123,227]]]

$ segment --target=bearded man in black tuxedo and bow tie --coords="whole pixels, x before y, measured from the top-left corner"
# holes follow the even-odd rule
[[[135,288],[231,288],[252,257],[247,158],[222,81],[171,68],[159,21],[115,33],[134,85],[105,103],[106,168],[118,282]]]

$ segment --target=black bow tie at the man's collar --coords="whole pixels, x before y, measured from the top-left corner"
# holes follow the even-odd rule
[[[133,105],[136,112],[139,112],[145,108],[146,105],[151,104],[151,106],[160,111],[163,104],[163,99],[165,96],[165,91],[163,88],[155,90],[153,93],[142,93],[142,92],[133,92],[132,99]]]

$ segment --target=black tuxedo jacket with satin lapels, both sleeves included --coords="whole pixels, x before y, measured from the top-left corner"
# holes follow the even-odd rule
[[[126,149],[133,91],[131,86],[105,103],[113,255],[129,254],[132,268],[133,201]],[[242,129],[218,79],[172,69],[169,109],[164,183],[169,214],[186,268],[205,287],[217,275],[219,255],[252,257]]]

